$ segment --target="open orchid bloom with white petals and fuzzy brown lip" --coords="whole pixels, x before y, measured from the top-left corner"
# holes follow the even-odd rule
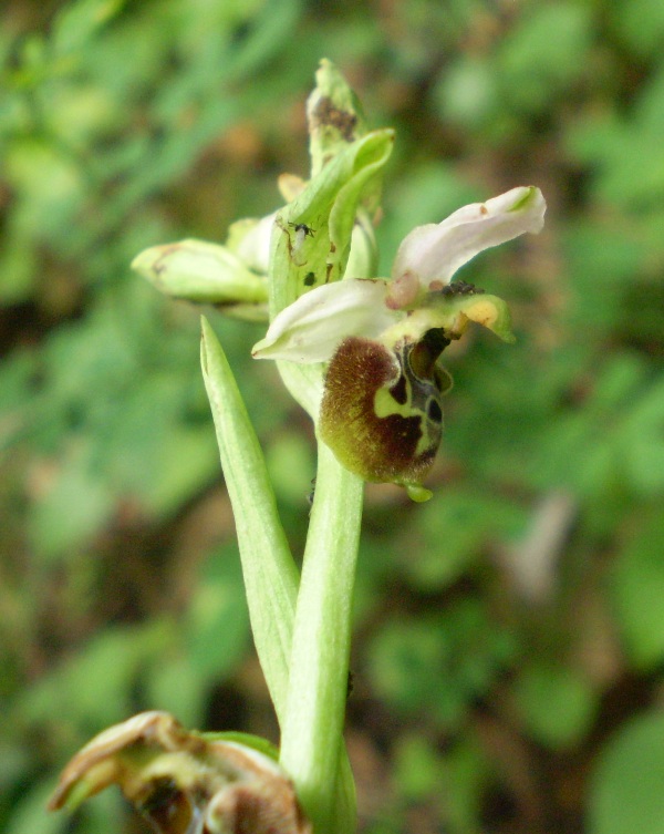
[[[305,292],[276,316],[253,356],[329,362],[321,439],[351,472],[416,497],[452,384],[440,353],[469,321],[513,341],[507,305],[452,278],[484,249],[540,231],[544,210],[539,188],[526,186],[418,226],[398,247],[390,280],[345,277]]]

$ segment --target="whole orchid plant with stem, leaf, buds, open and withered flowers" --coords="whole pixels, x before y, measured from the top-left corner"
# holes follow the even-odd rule
[[[151,247],[133,264],[168,296],[253,321],[271,316],[253,356],[280,360],[288,390],[317,422],[317,488],[300,573],[232,371],[203,320],[203,374],[279,753],[252,737],[187,732],[167,713],[141,713],[74,756],[52,809],[117,784],[159,834],[355,830],[343,724],[362,478],[402,484],[415,501],[430,497],[421,484],[452,384],[442,352],[470,321],[513,341],[506,303],[452,279],[484,249],[538,233],[546,206],[533,186],[466,206],[414,229],[391,278],[373,278],[372,218],[394,131],[366,128],[353,91],[326,60],[307,115],[311,177],[279,178],[281,209],[232,224],[222,245],[181,240]]]

